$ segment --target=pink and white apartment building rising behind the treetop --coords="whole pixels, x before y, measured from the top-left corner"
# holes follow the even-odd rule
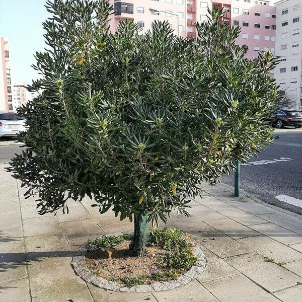
[[[115,8],[110,28],[115,31],[120,20],[137,22],[142,34],[150,29],[154,20],[168,20],[175,34],[196,38],[194,23],[207,19],[207,8],[221,8],[225,25],[239,25],[242,32],[238,45],[247,45],[248,58],[257,57],[257,50],[275,47],[275,7],[269,1],[254,0],[110,0]],[[152,11],[150,11],[152,9]],[[157,10],[157,11],[154,11]],[[178,27],[177,27],[178,24]]]

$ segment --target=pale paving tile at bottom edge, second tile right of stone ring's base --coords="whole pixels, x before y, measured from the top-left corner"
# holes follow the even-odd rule
[[[280,302],[243,275],[202,283],[220,302]]]

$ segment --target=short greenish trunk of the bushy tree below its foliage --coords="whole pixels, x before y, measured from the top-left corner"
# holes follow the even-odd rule
[[[131,256],[143,257],[147,238],[147,216],[142,213],[134,214],[134,237],[129,245]]]

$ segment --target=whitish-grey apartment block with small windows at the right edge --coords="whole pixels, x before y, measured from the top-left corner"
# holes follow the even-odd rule
[[[302,1],[282,0],[275,5],[275,53],[280,56],[275,79],[290,106],[302,110]]]

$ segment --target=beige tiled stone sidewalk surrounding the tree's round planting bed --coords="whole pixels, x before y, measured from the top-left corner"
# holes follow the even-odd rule
[[[70,202],[68,215],[39,216],[34,200],[24,199],[24,189],[4,167],[0,165],[0,301],[302,301],[298,214],[244,194],[235,198],[227,186],[205,185],[203,198],[192,202],[192,217],[173,214],[169,219],[203,248],[204,273],[168,292],[116,293],[86,284],[70,261],[89,238],[132,230],[132,223],[111,213],[100,215],[90,200]]]

